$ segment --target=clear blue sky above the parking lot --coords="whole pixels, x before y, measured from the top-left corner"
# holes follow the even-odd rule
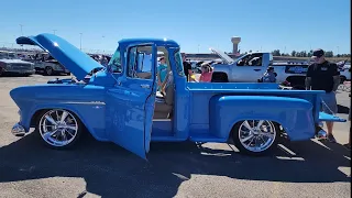
[[[113,52],[125,37],[168,37],[186,53],[209,47],[241,52],[321,47],[351,53],[350,0],[6,0],[0,45],[21,35],[53,33],[84,50]]]

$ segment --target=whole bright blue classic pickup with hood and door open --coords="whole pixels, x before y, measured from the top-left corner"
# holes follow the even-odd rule
[[[54,34],[21,36],[18,44],[38,45],[77,80],[23,86],[10,91],[20,108],[12,133],[35,128],[45,145],[66,148],[86,131],[146,158],[151,141],[228,142],[261,155],[275,147],[280,133],[309,140],[320,121],[344,122],[320,111],[320,94],[280,90],[276,84],[187,82],[179,45],[172,40],[121,40],[108,66]],[[157,91],[157,54],[168,69]]]

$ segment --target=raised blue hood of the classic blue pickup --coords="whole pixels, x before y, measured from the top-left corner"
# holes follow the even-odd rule
[[[20,45],[40,46],[75,75],[77,80],[84,79],[92,69],[103,67],[86,53],[54,34],[44,33],[36,36],[21,36],[15,42]]]

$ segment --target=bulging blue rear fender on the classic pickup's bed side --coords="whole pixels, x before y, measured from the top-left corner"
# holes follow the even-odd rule
[[[222,139],[242,120],[279,123],[292,141],[315,135],[312,105],[304,99],[274,96],[215,96],[210,99],[210,131]]]

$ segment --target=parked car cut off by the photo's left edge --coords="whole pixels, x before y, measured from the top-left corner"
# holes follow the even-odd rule
[[[21,61],[15,53],[0,51],[0,76],[6,73],[30,76],[35,73],[34,64]]]

